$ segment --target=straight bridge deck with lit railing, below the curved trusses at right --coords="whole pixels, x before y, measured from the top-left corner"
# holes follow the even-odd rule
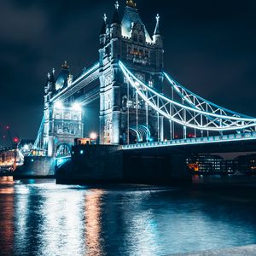
[[[170,152],[170,150],[185,150],[188,151],[188,153],[190,151],[193,153],[256,152],[256,131],[223,136],[183,138],[165,142],[137,143],[123,146],[123,150],[125,151],[136,150],[139,152],[145,151],[145,149],[158,149],[161,154],[165,151]],[[155,152],[156,150],[152,151]]]

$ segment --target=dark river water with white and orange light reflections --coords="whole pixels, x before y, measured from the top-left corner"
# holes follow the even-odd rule
[[[0,177],[0,255],[170,255],[253,243],[251,195]]]

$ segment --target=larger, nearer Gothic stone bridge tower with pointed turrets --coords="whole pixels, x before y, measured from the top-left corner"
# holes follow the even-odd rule
[[[100,142],[131,143],[130,131],[136,132],[138,127],[141,134],[147,134],[146,137],[149,131],[150,139],[163,140],[163,119],[153,109],[147,107],[146,111],[145,103],[138,102],[136,91],[128,90],[128,81],[119,69],[119,61],[123,61],[138,79],[162,91],[164,50],[160,16],[156,16],[154,35],[150,37],[138,14],[137,4],[126,1],[120,19],[119,3],[116,2],[113,20],[108,22],[107,16],[103,17],[99,39]],[[148,140],[145,137],[140,139]]]

